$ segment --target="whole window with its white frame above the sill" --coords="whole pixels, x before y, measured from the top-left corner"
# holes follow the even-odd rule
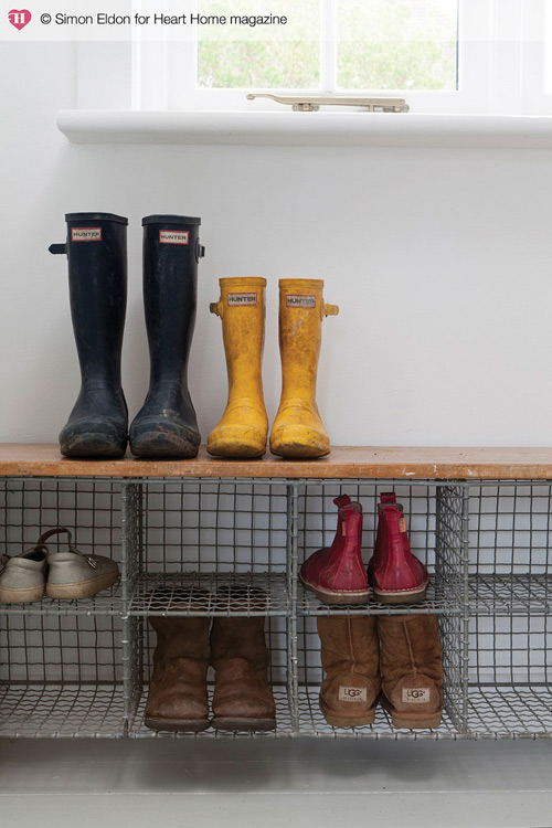
[[[195,13],[288,23],[136,44],[135,108],[284,110],[246,100],[268,91],[401,96],[413,113],[552,114],[552,0],[195,0]]]

